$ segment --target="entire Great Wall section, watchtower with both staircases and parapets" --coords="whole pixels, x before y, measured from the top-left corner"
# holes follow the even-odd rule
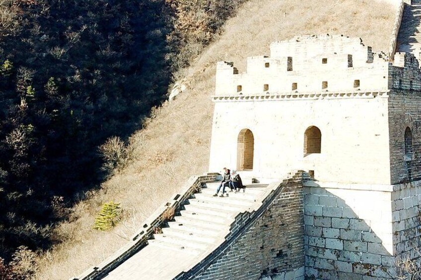
[[[399,2],[388,54],[318,35],[219,62],[212,173],[72,280],[396,278],[421,250],[420,18]],[[224,166],[245,192],[212,197]]]

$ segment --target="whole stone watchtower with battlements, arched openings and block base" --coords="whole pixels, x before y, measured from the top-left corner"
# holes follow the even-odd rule
[[[394,60],[359,38],[303,36],[249,57],[245,73],[217,64],[210,170],[314,176],[309,278],[390,278],[397,257],[419,257],[421,72],[412,54]]]

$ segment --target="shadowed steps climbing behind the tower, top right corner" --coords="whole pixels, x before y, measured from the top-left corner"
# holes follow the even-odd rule
[[[413,53],[419,60],[421,58],[421,0],[405,4],[396,51]]]

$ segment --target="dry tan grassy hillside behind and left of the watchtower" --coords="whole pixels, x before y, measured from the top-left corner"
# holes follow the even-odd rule
[[[185,69],[190,88],[131,139],[132,161],[101,191],[74,207],[71,222],[57,233],[66,242],[47,252],[37,279],[67,279],[101,262],[137,230],[154,209],[193,174],[207,170],[215,63],[234,61],[240,71],[247,56],[269,53],[269,44],[300,34],[345,34],[363,38],[374,51],[388,50],[395,9],[368,0],[250,0],[224,32]],[[92,230],[105,201],[121,203],[124,219],[110,232]]]

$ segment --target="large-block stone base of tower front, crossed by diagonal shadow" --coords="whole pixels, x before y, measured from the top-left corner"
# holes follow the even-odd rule
[[[395,275],[391,193],[369,188],[304,187],[306,278],[380,280]]]

